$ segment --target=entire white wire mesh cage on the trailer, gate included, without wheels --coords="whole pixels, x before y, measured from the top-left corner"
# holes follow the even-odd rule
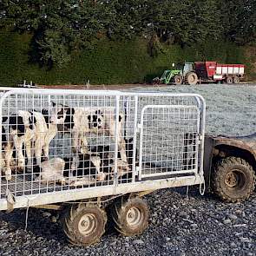
[[[72,200],[69,191],[82,197],[113,187],[115,194],[141,176],[195,174],[203,108],[197,95],[6,89],[0,201],[45,194]]]

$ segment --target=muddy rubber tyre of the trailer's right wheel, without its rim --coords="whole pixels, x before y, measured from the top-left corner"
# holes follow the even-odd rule
[[[126,216],[128,210],[131,207],[137,207],[142,213],[141,225],[133,228],[127,222]],[[112,218],[115,223],[115,229],[124,236],[134,236],[141,234],[148,227],[149,211],[148,205],[141,198],[125,199],[121,197],[121,200],[115,201],[115,205],[112,208]]]

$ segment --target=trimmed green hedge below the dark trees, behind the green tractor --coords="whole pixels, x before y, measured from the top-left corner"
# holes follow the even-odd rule
[[[163,45],[156,57],[148,55],[147,42],[136,38],[128,42],[101,39],[94,49],[74,53],[69,65],[62,69],[46,69],[30,63],[31,35],[0,31],[0,85],[13,86],[23,80],[39,84],[118,84],[150,82],[172,62],[217,60],[246,63],[244,49],[233,43],[210,41],[181,49]],[[248,63],[249,64],[249,63]],[[255,75],[250,70],[251,75]]]

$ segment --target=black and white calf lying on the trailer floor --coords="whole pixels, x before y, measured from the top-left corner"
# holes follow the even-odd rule
[[[128,159],[132,160],[132,141],[126,141]],[[113,151],[109,146],[97,145],[90,148],[90,154],[78,154],[77,168],[71,170],[73,158],[52,158],[43,161],[41,167],[37,167],[36,181],[43,184],[60,183],[69,186],[83,186],[95,184],[96,181],[113,181],[115,161],[111,157]],[[119,154],[120,157],[120,154]],[[129,164],[132,164],[130,161]],[[131,168],[117,168],[117,178],[127,175],[131,179]]]

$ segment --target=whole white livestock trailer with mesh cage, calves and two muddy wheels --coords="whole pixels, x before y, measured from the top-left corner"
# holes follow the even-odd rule
[[[1,89],[0,210],[65,211],[71,243],[87,246],[111,218],[125,235],[148,226],[141,196],[200,186],[206,104],[201,95]]]

